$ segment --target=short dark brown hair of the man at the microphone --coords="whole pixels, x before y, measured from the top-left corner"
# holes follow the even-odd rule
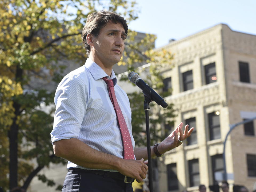
[[[120,23],[123,25],[123,28],[125,29],[125,34],[127,36],[128,33],[128,25],[126,23],[126,20],[121,17],[120,15],[110,12],[110,11],[95,11],[88,15],[86,24],[83,27],[83,33],[82,33],[82,40],[83,40],[83,46],[86,49],[86,54],[89,57],[90,55],[90,45],[88,45],[86,41],[87,34],[92,34],[94,37],[97,37],[99,35],[99,31],[104,27],[107,22],[111,21],[112,23]]]

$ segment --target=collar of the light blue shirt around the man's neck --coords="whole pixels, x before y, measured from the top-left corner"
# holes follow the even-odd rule
[[[113,69],[112,69],[111,76],[108,76],[106,72],[100,66],[98,66],[97,63],[92,61],[90,58],[86,59],[85,67],[90,71],[95,81],[97,81],[98,79],[101,79],[102,77],[107,77],[107,79],[113,79],[114,85],[117,84],[117,78],[115,76]]]

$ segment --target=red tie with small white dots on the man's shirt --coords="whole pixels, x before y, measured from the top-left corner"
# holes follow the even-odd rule
[[[103,77],[102,79],[107,83],[107,87],[109,88],[109,97],[114,106],[115,113],[117,115],[117,122],[119,124],[122,140],[123,140],[123,158],[134,159],[133,144],[131,142],[130,133],[127,128],[125,119],[123,118],[122,111],[118,105],[117,98],[115,97],[113,80],[112,79],[108,80],[106,77]]]

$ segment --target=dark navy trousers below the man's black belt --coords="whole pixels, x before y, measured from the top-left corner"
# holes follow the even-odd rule
[[[70,170],[62,192],[133,192],[131,184],[104,175]]]

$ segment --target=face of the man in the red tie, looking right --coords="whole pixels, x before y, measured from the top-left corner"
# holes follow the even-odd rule
[[[118,63],[125,48],[126,38],[123,25],[108,22],[99,31],[98,37],[93,37],[92,54],[96,63],[102,63],[105,67],[112,67]]]

